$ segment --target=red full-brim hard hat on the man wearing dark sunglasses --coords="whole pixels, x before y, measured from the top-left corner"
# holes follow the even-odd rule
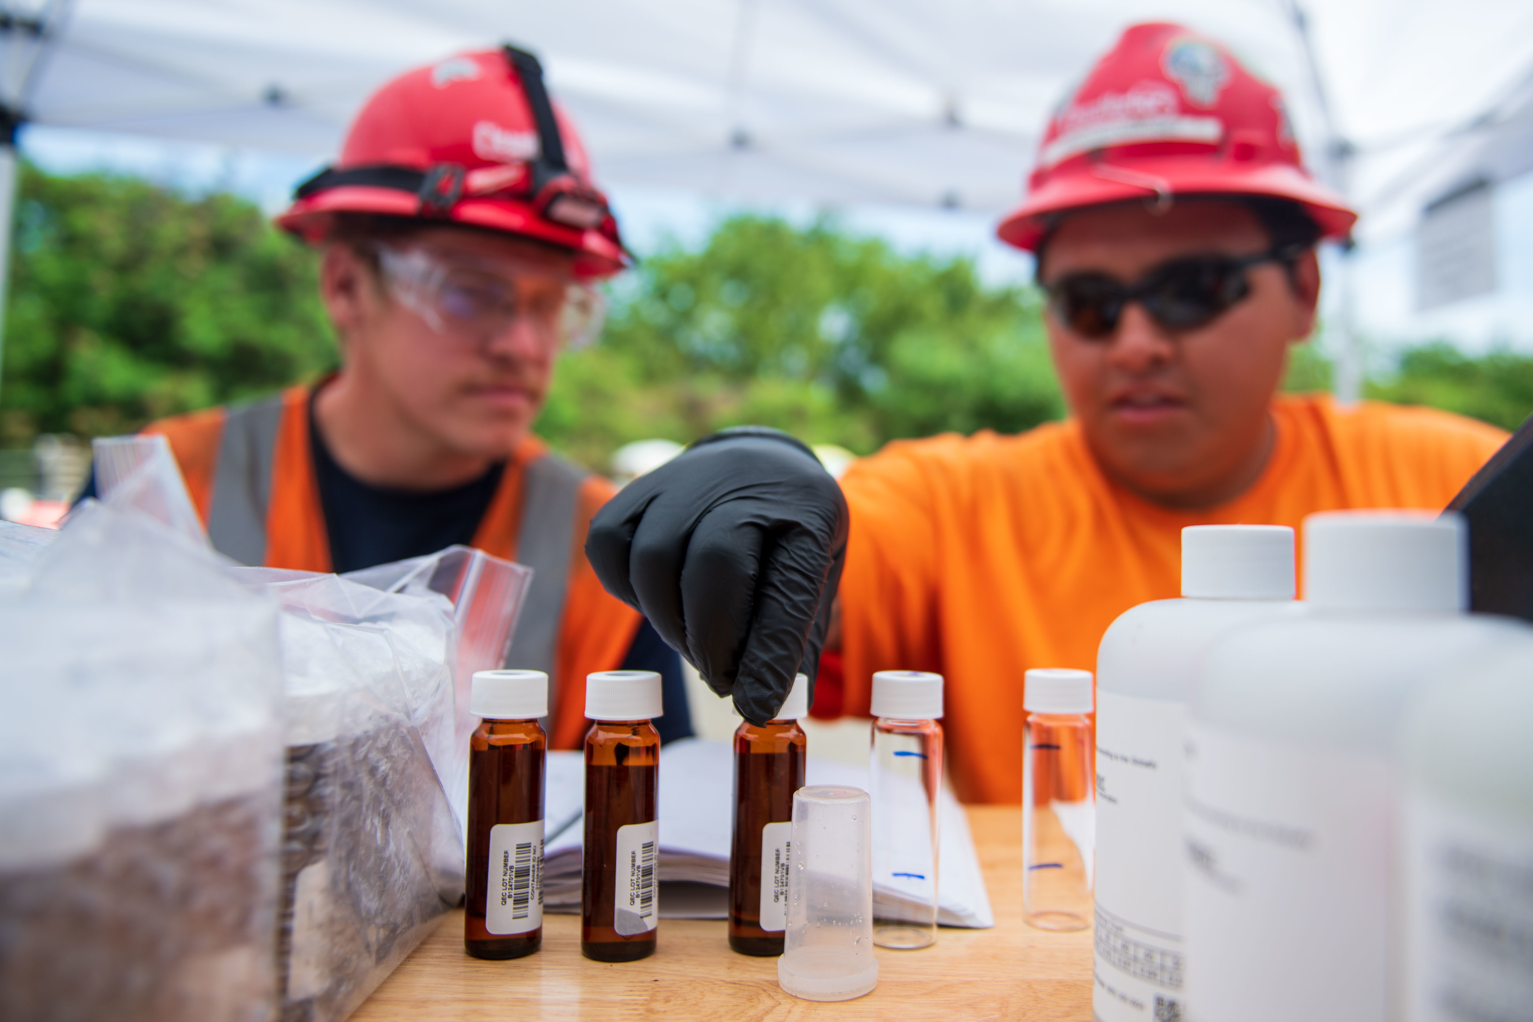
[[[1134,25],[1055,110],[1027,198],[995,233],[1032,251],[1050,213],[1177,195],[1292,199],[1323,237],[1357,222],[1305,170],[1277,89],[1180,25]]]

